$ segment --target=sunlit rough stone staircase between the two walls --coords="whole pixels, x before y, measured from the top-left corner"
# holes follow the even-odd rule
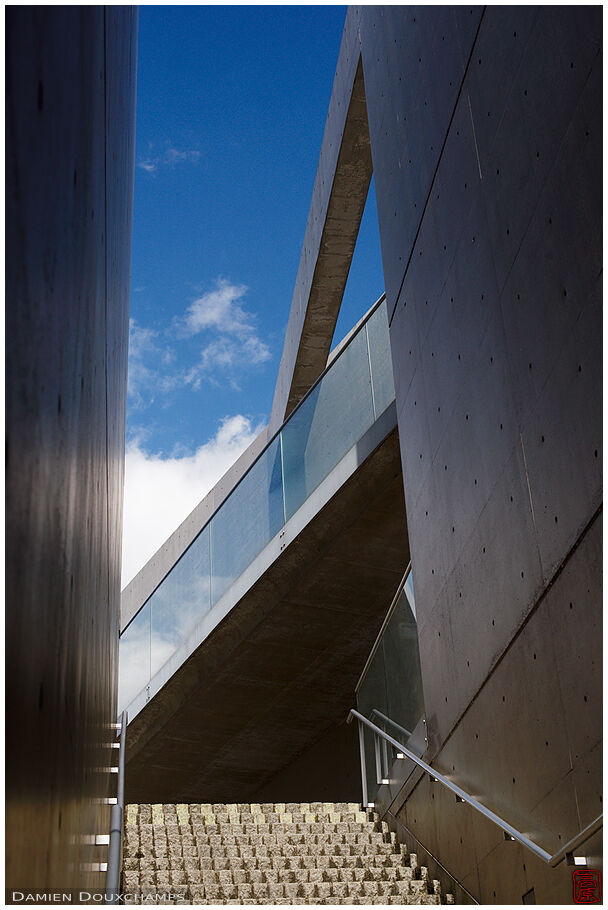
[[[442,902],[416,855],[356,803],[129,805],[122,890],[125,903]]]

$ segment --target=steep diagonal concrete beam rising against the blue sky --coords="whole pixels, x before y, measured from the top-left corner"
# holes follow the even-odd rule
[[[349,9],[275,387],[271,433],[327,364],[371,176],[358,20]]]

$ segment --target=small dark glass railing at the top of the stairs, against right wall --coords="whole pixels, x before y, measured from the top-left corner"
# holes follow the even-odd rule
[[[423,751],[418,747],[424,699],[411,568],[397,590],[357,684],[357,709],[416,754]],[[364,744],[367,798],[376,802],[378,787],[391,777],[397,751],[367,729]]]

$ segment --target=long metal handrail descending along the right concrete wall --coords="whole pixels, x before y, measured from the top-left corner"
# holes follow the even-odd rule
[[[390,734],[385,733],[384,730],[381,730],[380,727],[377,727],[376,724],[372,723],[371,720],[368,720],[363,714],[360,714],[359,711],[355,708],[351,708],[347,723],[350,723],[352,718],[356,718],[359,722],[359,745],[360,745],[360,754],[361,754],[361,776],[363,781],[363,801],[367,805],[367,771],[365,767],[365,749],[363,743],[363,725],[369,727],[369,729],[374,733],[375,737],[380,736],[386,742],[390,743],[392,746],[395,746],[400,752],[403,752],[404,755],[407,755],[418,767],[422,768],[423,771],[426,771],[427,774],[443,784],[448,790],[451,790],[452,793],[455,793],[459,800],[462,802],[468,803],[469,806],[472,806],[474,809],[477,809],[485,818],[489,819],[491,822],[494,822],[495,825],[498,825],[499,828],[510,835],[513,840],[519,841],[520,844],[523,844],[524,847],[527,847],[528,850],[531,850],[532,853],[536,854],[540,859],[544,860],[550,866],[557,866],[566,858],[568,853],[571,853],[575,847],[587,840],[595,831],[597,831],[603,824],[603,814],[598,815],[594,821],[592,821],[586,828],[580,831],[572,840],[560,847],[557,853],[548,853],[546,850],[543,850],[542,847],[539,847],[538,844],[535,844],[533,840],[530,840],[529,837],[526,837],[525,834],[522,834],[521,831],[518,831],[517,828],[514,828],[513,825],[510,825],[509,822],[505,821],[504,818],[501,818],[500,815],[497,815],[495,812],[492,812],[491,809],[488,809],[486,806],[482,805],[479,800],[475,799],[474,796],[471,796],[466,790],[463,790],[462,787],[459,787],[457,784],[452,783],[451,780],[448,780],[447,777],[444,777],[439,771],[436,771],[425,761],[419,758],[414,752],[404,746],[403,743],[398,742]]]

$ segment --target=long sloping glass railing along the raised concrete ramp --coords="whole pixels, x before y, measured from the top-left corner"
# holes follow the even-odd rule
[[[120,710],[395,398],[386,302],[332,360],[120,637]]]

